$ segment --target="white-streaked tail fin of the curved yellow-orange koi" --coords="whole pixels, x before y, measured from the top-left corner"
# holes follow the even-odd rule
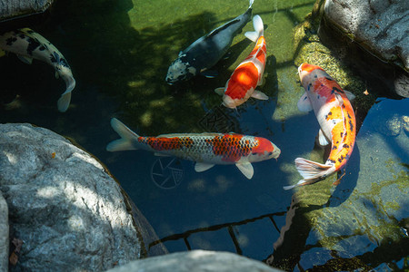
[[[283,189],[293,189],[294,187],[313,184],[319,180],[324,180],[326,176],[335,171],[334,165],[326,165],[303,158],[295,159],[295,167],[304,179],[298,181],[295,185],[284,186]]]

